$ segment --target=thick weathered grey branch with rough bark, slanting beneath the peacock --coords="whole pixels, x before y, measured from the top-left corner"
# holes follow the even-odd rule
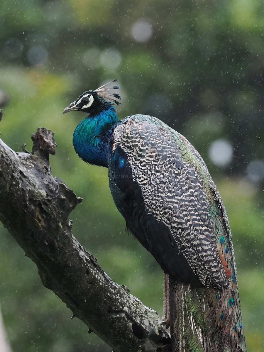
[[[114,351],[169,351],[158,314],[113,282],[71,233],[68,216],[81,199],[50,173],[53,133],[39,128],[32,139],[36,155],[0,139],[0,220],[36,263],[43,285]]]

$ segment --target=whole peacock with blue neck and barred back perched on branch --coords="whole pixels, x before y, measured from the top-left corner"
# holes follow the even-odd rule
[[[231,231],[205,162],[155,117],[118,121],[120,95],[111,90],[119,86],[110,83],[82,93],[63,113],[88,114],[74,131],[74,149],[108,168],[127,231],[165,273],[163,318],[174,351],[245,352]]]

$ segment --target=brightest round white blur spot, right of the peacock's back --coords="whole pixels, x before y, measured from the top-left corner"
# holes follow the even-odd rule
[[[227,166],[233,157],[233,147],[226,139],[217,139],[209,147],[209,157],[218,166]]]

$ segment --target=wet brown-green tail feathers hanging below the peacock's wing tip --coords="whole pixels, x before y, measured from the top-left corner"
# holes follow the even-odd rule
[[[238,291],[194,288],[176,282],[172,338],[178,352],[244,352]]]

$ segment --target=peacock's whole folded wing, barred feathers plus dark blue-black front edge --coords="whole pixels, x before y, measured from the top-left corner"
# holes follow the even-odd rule
[[[115,126],[109,156],[115,204],[165,272],[195,286],[225,287],[208,186],[157,121],[134,115]]]

